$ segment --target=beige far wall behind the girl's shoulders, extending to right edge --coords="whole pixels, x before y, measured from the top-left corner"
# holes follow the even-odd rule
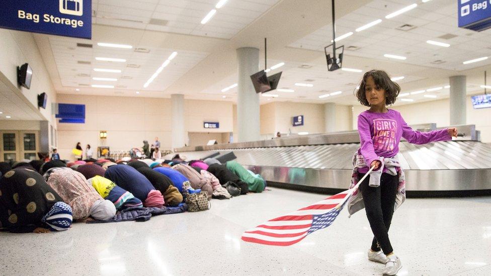
[[[476,129],[481,131],[481,141],[491,142],[491,108],[473,109],[470,96],[467,97],[467,124],[476,125]],[[390,107],[389,107],[390,108]],[[459,107],[452,107],[457,109]],[[353,116],[354,129],[357,129],[357,116],[368,108],[356,106]],[[427,124],[436,123],[437,127],[445,127],[450,124],[450,100],[444,99],[393,107],[401,113],[402,118],[407,124]]]

